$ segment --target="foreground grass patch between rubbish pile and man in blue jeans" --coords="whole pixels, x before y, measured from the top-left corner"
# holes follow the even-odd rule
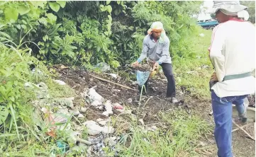
[[[183,110],[160,113],[167,129],[145,132],[135,125],[126,141],[119,144],[120,156],[195,156],[197,141],[211,131],[210,125]]]

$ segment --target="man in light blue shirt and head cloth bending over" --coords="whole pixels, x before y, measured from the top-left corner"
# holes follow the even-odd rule
[[[132,66],[138,66],[140,62],[148,57],[154,62],[154,67],[158,69],[162,66],[162,71],[167,78],[166,97],[172,100],[172,103],[178,103],[175,90],[174,74],[172,72],[172,58],[169,56],[169,38],[165,35],[165,30],[160,21],[152,23],[148,30],[148,35],[143,40],[143,50],[140,57]],[[148,81],[145,83],[147,85]]]

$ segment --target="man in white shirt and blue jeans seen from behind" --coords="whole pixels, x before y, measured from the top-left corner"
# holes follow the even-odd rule
[[[216,124],[218,156],[232,157],[232,104],[247,120],[243,99],[255,93],[255,26],[246,22],[246,6],[239,1],[213,1],[220,23],[213,29],[209,55],[215,68],[211,76],[211,101]],[[243,19],[243,20],[242,20]]]

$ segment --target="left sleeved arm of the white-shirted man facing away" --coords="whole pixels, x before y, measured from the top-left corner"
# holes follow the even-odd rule
[[[219,25],[221,26],[221,25]],[[217,26],[213,30],[211,36],[211,47],[209,47],[211,62],[216,71],[216,76],[219,82],[222,82],[225,77],[225,56],[222,54],[223,47],[225,46],[225,33]]]

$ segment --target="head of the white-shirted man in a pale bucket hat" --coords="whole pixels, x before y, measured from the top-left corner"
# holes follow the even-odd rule
[[[243,18],[247,20],[247,6],[240,5],[239,1],[213,1],[213,11],[219,23],[224,23],[230,18]],[[245,13],[246,12],[246,13]]]

